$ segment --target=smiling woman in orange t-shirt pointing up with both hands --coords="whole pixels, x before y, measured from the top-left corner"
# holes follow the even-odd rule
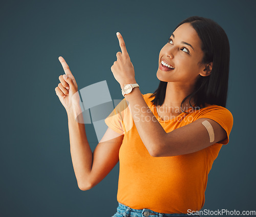
[[[84,125],[75,120],[77,84],[59,58],[66,75],[55,91],[68,113],[78,186],[92,188],[119,161],[114,216],[199,216],[208,173],[233,125],[225,108],[228,38],[211,19],[183,20],[160,51],[159,87],[142,94],[124,40],[117,37],[121,52],[111,70],[124,99],[105,119],[109,128],[94,153]]]

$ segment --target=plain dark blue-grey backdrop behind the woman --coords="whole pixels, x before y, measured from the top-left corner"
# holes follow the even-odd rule
[[[73,171],[66,111],[55,94],[68,62],[81,89],[106,80],[126,42],[141,92],[153,92],[158,55],[176,25],[198,15],[217,21],[230,42],[230,141],[208,176],[203,209],[255,210],[255,1],[2,1],[1,216],[112,216],[118,164],[81,191]],[[97,138],[86,125],[92,150]],[[189,195],[188,195],[189,197]]]

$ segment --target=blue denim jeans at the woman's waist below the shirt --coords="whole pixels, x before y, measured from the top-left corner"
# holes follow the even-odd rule
[[[129,206],[125,206],[118,202],[117,212],[112,217],[165,217],[165,216],[199,216],[200,215],[192,215],[192,214],[184,214],[184,213],[160,213],[155,212],[151,209],[132,209]]]

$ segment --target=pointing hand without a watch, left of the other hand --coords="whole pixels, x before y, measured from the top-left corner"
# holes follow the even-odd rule
[[[63,57],[59,61],[65,71],[65,75],[59,76],[60,83],[55,88],[55,92],[67,112],[74,111],[79,106],[79,93],[76,80]]]

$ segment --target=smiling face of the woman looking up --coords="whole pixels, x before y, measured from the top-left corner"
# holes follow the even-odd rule
[[[199,65],[204,54],[196,30],[189,24],[179,26],[160,51],[157,78],[165,82],[195,84],[199,75],[206,76],[205,65]],[[174,69],[162,65],[162,61]]]

